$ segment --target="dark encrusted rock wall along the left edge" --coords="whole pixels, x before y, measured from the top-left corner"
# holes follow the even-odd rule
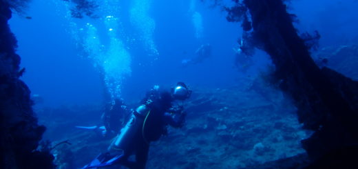
[[[20,57],[10,31],[10,5],[0,1],[0,148],[1,168],[54,168],[50,152],[36,150],[44,126],[37,124],[30,90],[19,80]]]

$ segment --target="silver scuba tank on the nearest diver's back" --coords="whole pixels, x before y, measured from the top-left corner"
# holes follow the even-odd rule
[[[129,144],[134,140],[134,137],[141,132],[143,122],[148,112],[149,108],[145,105],[136,108],[125,127],[120,130],[120,134],[112,141],[108,150],[128,151],[128,148],[131,147]]]

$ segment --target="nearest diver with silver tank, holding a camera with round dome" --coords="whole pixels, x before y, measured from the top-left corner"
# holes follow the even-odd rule
[[[147,163],[149,144],[167,134],[167,126],[181,128],[185,123],[185,111],[180,101],[185,101],[191,95],[191,90],[185,83],[177,83],[171,92],[160,90],[154,86],[141,105],[132,112],[131,119],[120,130],[108,151],[98,155],[85,168],[98,168],[119,164],[131,169],[143,169]],[[177,101],[178,105],[173,106]],[[135,155],[135,161],[129,156]]]

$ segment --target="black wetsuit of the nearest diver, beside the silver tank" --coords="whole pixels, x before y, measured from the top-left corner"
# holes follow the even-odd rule
[[[169,114],[168,110],[171,108],[171,102],[173,101],[169,92],[151,93],[151,95],[147,95],[146,99],[143,99],[143,103],[148,103],[149,99],[151,101],[150,104],[147,104],[149,115],[138,117],[145,118],[144,127],[142,125],[141,130],[138,130],[131,146],[120,160],[121,165],[131,169],[145,168],[149,143],[157,141],[160,136],[165,135],[167,125],[179,128],[184,121],[184,116],[176,120]],[[129,156],[133,154],[136,155],[136,161],[129,161]]]

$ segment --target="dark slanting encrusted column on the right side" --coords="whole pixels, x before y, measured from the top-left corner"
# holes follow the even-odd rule
[[[308,155],[320,157],[358,143],[357,82],[316,66],[282,0],[235,2],[240,8],[229,8],[229,14],[240,13],[231,10],[244,11],[242,6],[246,6],[251,14],[253,30],[249,33],[255,39],[255,47],[271,56],[277,83],[295,101],[299,121],[305,128],[315,130],[312,137],[302,141]],[[246,14],[229,18],[242,21],[243,16]]]

